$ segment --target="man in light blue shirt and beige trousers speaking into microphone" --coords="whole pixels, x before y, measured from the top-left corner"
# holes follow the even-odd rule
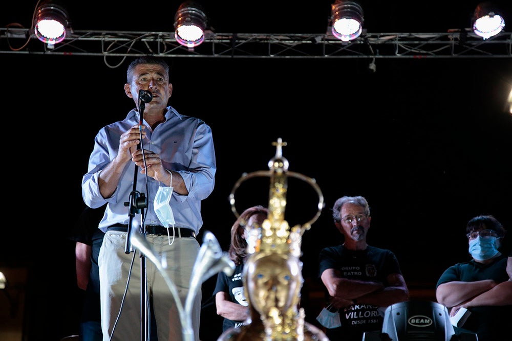
[[[160,341],[182,340],[174,297],[151,262],[142,268],[150,307],[141,307],[141,261],[125,243],[129,226],[140,228],[157,257],[166,258],[165,270],[184,304],[200,249],[195,236],[203,224],[201,201],[215,183],[212,133],[204,121],[167,105],[173,84],[162,58],[140,57],[130,63],[126,76],[124,91],[136,107],[122,121],[99,130],[82,178],[87,206],[106,203],[98,225],[105,232],[98,258],[103,340],[143,335],[141,321],[147,316],[141,311],[154,312],[157,330],[149,334],[156,333]],[[191,316],[196,341],[200,308],[198,292]]]

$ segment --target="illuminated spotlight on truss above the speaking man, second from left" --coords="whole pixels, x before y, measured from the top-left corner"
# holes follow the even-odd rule
[[[174,36],[180,44],[194,49],[203,42],[207,19],[201,5],[185,1],[176,11],[174,20]]]

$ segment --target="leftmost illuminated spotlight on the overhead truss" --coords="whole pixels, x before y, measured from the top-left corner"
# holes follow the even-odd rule
[[[34,31],[36,37],[53,49],[56,43],[66,37],[68,13],[60,6],[46,2],[39,6],[34,15]]]

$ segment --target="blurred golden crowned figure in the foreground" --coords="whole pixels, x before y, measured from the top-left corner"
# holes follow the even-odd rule
[[[280,138],[272,145],[276,146],[276,153],[268,162],[270,170],[244,173],[229,195],[231,209],[238,218],[234,193],[241,183],[252,177],[270,177],[268,217],[259,229],[250,231],[249,256],[244,265],[244,289],[252,320],[241,327],[226,330],[218,341],[328,341],[321,330],[305,322],[304,308],[298,308],[304,282],[299,259],[302,235],[321,214],[324,197],[314,179],[288,171],[288,161],[283,157],[282,150],[286,142]],[[288,177],[306,181],[319,198],[315,216],[293,228],[284,219]]]

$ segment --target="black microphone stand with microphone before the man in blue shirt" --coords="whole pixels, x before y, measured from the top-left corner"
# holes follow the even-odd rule
[[[144,116],[144,109],[146,107],[145,103],[150,102],[153,99],[151,93],[146,92],[145,90],[139,91],[139,132],[142,132],[142,118]],[[142,133],[140,137],[140,143],[137,145],[137,150],[142,147]],[[147,208],[147,197],[144,193],[139,193],[137,191],[137,175],[139,172],[139,167],[135,166],[135,171],[133,174],[133,190],[130,193],[129,202],[125,202],[124,206],[129,206],[129,220],[128,220],[128,232],[126,234],[126,241],[124,245],[124,253],[129,254],[131,252],[130,245],[130,236],[132,233],[132,225],[133,218],[135,214],[140,213],[141,209]],[[140,231],[144,236],[144,240],[146,239],[146,232],[144,229],[144,214],[142,214],[142,225],[140,226]],[[140,252],[140,313],[142,316],[141,326],[140,326],[140,337],[141,341],[148,340],[148,331],[149,331],[149,321],[148,321],[148,298],[147,298],[147,279],[146,279],[146,259],[142,252]]]

